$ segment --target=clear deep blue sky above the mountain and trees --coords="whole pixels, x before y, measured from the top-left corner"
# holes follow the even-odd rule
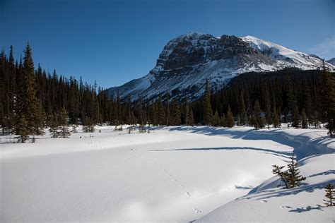
[[[0,44],[16,59],[109,88],[140,78],[165,44],[189,31],[253,35],[335,56],[335,0],[0,0]]]

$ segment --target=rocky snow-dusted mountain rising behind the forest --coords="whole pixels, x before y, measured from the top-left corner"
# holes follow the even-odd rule
[[[334,70],[335,66],[327,64]],[[194,100],[204,93],[206,78],[211,88],[221,89],[228,80],[251,71],[276,71],[295,67],[319,69],[322,59],[256,37],[235,37],[189,32],[168,42],[160,53],[156,66],[143,78],[108,89],[110,96],[131,95],[149,100],[160,92],[172,97]]]

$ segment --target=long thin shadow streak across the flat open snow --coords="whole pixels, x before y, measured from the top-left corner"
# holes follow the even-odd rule
[[[281,152],[275,150],[261,149],[255,147],[206,147],[206,148],[184,148],[184,149],[172,149],[172,150],[148,150],[153,152],[166,152],[166,151],[206,151],[206,150],[254,150],[264,152],[266,154],[277,155],[280,157],[288,158],[292,155],[291,152]]]

